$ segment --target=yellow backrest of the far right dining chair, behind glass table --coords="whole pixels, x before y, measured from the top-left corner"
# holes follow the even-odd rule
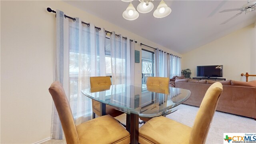
[[[147,86],[168,86],[169,78],[165,77],[148,77]]]

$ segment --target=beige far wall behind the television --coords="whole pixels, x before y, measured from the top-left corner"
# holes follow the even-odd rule
[[[223,77],[244,81],[241,73],[256,74],[256,28],[254,24],[210,42],[182,56],[182,69],[190,68],[196,76],[196,66],[223,64]],[[256,80],[251,77],[249,80]]]

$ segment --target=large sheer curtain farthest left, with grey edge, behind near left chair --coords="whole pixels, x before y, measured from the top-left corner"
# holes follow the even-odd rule
[[[105,30],[72,21],[56,11],[56,68],[54,80],[66,92],[76,125],[92,117],[91,99],[81,90],[90,88],[90,76],[106,76]],[[62,127],[54,106],[51,138],[62,139]]]

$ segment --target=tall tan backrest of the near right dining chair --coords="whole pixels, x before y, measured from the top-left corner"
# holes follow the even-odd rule
[[[206,91],[192,127],[190,144],[205,143],[222,90],[222,84],[215,82]]]

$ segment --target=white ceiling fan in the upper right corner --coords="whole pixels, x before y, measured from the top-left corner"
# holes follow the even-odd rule
[[[228,9],[228,10],[222,10],[220,12],[231,12],[231,11],[236,11],[236,10],[239,10],[240,12],[238,14],[232,16],[228,20],[222,22],[221,24],[226,24],[228,21],[230,21],[233,18],[235,18],[236,16],[239,16],[240,14],[242,14],[242,12],[245,12],[245,14],[248,12],[253,12],[254,10],[256,10],[256,1],[250,2],[250,0],[248,0],[247,4],[244,4],[241,8],[232,8],[232,9]]]

